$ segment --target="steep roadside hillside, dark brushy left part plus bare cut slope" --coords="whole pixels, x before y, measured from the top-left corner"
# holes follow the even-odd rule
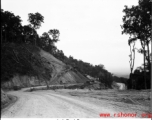
[[[2,48],[2,87],[84,83],[87,78],[39,47],[7,44]]]

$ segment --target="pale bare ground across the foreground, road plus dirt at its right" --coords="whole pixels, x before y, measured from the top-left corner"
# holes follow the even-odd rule
[[[139,91],[129,93],[114,90],[24,90],[8,92],[17,96],[18,100],[2,111],[2,118],[99,118],[101,113],[110,113],[110,117],[114,117],[114,114],[120,112],[135,113],[136,117],[141,117],[142,113],[149,112],[149,106],[146,104],[121,99],[125,98],[124,96],[135,96],[135,93],[146,98],[145,92],[143,94]]]

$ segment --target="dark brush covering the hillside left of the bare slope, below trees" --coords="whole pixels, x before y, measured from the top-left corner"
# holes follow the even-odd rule
[[[49,80],[52,73],[51,68],[47,68],[43,59],[34,54],[39,49],[30,45],[8,43],[2,48],[2,68],[1,82],[5,82],[13,75],[38,76]]]

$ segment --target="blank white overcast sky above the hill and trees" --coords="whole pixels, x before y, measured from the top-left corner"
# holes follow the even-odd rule
[[[39,12],[44,23],[39,35],[50,29],[60,31],[58,49],[66,56],[103,64],[114,75],[129,75],[129,35],[121,34],[124,6],[137,5],[138,0],[1,0],[1,8],[19,15],[22,25],[29,22],[28,13]],[[136,48],[140,43],[136,42]],[[135,68],[143,56],[136,52]]]

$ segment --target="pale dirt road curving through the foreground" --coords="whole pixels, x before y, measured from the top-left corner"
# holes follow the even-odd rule
[[[73,90],[76,91],[76,90]],[[10,91],[18,100],[7,107],[2,118],[99,118],[101,113],[136,113],[141,117],[148,109],[89,97],[72,96],[66,90]]]

